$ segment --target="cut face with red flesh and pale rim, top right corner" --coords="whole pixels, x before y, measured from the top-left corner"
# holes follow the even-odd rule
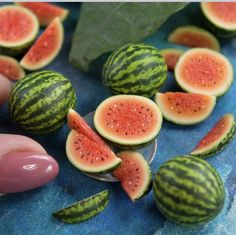
[[[236,2],[202,2],[201,9],[214,25],[229,31],[236,30]]]

